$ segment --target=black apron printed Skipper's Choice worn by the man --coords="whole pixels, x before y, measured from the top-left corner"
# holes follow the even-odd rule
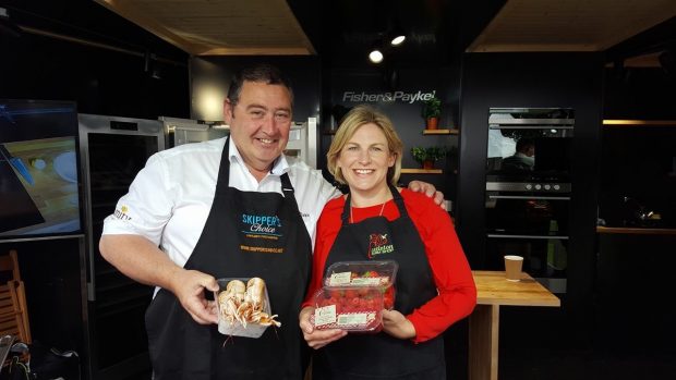
[[[185,262],[219,278],[265,280],[281,328],[258,339],[218,332],[196,323],[178,298],[160,290],[146,311],[155,380],[302,379],[306,345],[298,323],[307,290],[311,240],[287,173],[278,193],[229,187],[229,139],[220,160],[214,205],[197,245]],[[207,293],[210,293],[207,291]]]

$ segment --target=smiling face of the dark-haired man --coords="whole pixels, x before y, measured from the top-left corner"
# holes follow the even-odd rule
[[[239,102],[225,103],[230,135],[244,163],[258,172],[269,171],[287,147],[291,118],[291,94],[282,85],[244,82]]]

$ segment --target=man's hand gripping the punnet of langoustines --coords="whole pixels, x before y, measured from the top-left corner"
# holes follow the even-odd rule
[[[204,292],[217,292],[218,282],[213,275],[180,269],[173,277],[171,292],[181,306],[200,324],[218,323],[216,301],[207,301]]]

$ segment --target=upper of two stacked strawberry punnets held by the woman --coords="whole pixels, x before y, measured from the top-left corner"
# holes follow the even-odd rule
[[[391,286],[399,265],[394,260],[338,261],[326,270],[325,287]]]

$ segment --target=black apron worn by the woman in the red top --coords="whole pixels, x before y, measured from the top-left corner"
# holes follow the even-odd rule
[[[405,316],[437,295],[425,247],[415,225],[409,218],[399,192],[390,186],[399,218],[367,218],[350,223],[350,196],[342,211],[342,226],[326,258],[326,269],[336,261],[396,260],[399,263],[396,281],[395,309]],[[385,235],[375,248],[371,235]],[[390,252],[386,245],[391,244]],[[373,255],[384,252],[385,254]],[[313,380],[326,379],[446,379],[443,336],[413,344],[395,339],[385,332],[355,334],[333,342],[317,351],[313,364]]]

